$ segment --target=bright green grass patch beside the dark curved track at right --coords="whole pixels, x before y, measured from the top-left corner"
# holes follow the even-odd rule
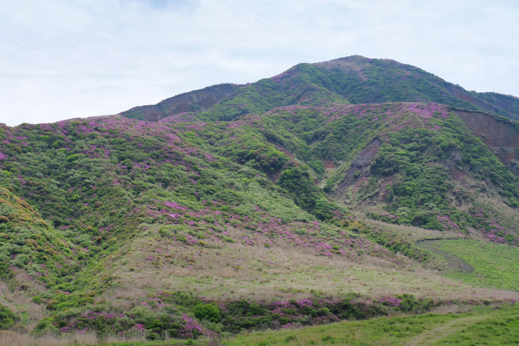
[[[447,277],[483,287],[519,289],[519,248],[476,240],[441,240],[428,243],[456,255],[474,267],[472,273],[453,271]],[[425,247],[427,249],[427,247]]]

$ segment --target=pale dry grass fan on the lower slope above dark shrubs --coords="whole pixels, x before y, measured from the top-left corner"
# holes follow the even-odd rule
[[[294,223],[290,227],[299,226]],[[383,223],[377,227],[392,228],[409,239],[457,236]],[[244,234],[236,228],[227,229],[236,239]],[[339,256],[316,256],[313,248],[294,247],[280,238],[276,238],[277,244],[269,248],[251,247],[241,242],[218,248],[173,246],[166,239],[162,245],[166,245],[167,251],[175,256],[173,263],[169,263],[163,252],[154,252],[156,241],[154,246],[147,247],[146,252],[134,250],[136,246],[144,247],[149,243],[149,237],[158,238],[158,228],[150,227],[146,238],[136,238],[111,259],[115,264],[112,274],[119,276],[123,283],[121,288],[105,292],[104,296],[117,307],[129,307],[145,295],[163,290],[192,292],[214,300],[243,298],[264,301],[308,298],[310,289],[334,296],[347,292],[370,297],[409,293],[436,301],[468,300],[474,298],[473,291],[476,291],[477,298],[517,296],[515,292],[480,289],[450,280],[438,275],[438,271],[423,268],[415,260],[401,255],[398,259],[402,265],[367,255],[362,256],[362,263],[350,262]],[[262,236],[257,237],[262,244]],[[127,251],[132,251],[130,256],[124,255]],[[160,256],[160,268],[145,260],[148,256]],[[188,263],[182,260],[184,256],[195,258],[196,267],[202,269],[187,268]],[[121,263],[122,258],[126,264]],[[134,267],[135,272],[129,272],[129,267]]]

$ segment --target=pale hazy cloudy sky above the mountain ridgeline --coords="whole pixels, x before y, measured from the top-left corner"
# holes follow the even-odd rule
[[[519,2],[0,1],[0,122],[54,122],[350,55],[519,96]]]

